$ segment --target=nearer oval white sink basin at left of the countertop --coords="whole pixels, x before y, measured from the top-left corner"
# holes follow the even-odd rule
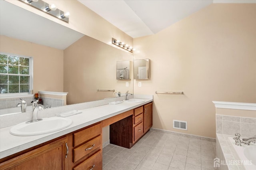
[[[33,123],[20,123],[10,129],[10,133],[16,136],[32,136],[50,133],[70,126],[71,119],[63,117],[49,117]]]

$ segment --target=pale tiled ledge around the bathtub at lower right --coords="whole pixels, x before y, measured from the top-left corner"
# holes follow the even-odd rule
[[[251,160],[241,160],[240,155],[236,152],[234,147],[246,147],[232,146],[234,135],[219,134],[216,133],[216,160],[219,163],[218,170],[255,170],[256,166],[251,164]],[[242,138],[242,137],[241,137]],[[256,144],[251,144],[256,147]]]

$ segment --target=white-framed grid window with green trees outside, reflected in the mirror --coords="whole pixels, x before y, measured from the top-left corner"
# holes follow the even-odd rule
[[[32,58],[0,53],[0,93],[32,89]]]

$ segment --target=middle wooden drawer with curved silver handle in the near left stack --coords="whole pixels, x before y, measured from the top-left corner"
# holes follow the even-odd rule
[[[101,146],[101,135],[86,142],[85,144],[74,149],[74,162],[80,160],[83,157],[88,157],[98,150]]]

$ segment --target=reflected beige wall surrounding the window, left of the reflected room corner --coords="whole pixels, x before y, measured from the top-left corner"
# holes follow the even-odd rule
[[[0,52],[33,57],[33,93],[63,91],[63,50],[0,36]]]

